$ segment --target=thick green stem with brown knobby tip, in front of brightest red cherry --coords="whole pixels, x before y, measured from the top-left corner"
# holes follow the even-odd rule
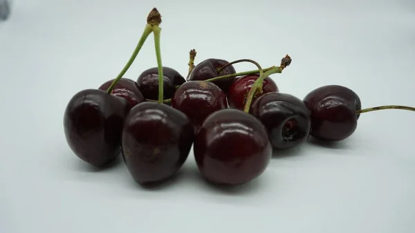
[[[286,55],[283,59],[281,59],[281,64],[279,66],[273,66],[273,68],[271,68],[269,71],[266,71],[266,73],[262,73],[261,75],[259,75],[259,77],[257,78],[257,80],[255,80],[254,84],[252,84],[252,87],[248,92],[248,97],[246,97],[246,104],[243,108],[243,111],[249,113],[250,105],[252,104],[252,100],[254,99],[255,94],[262,93],[264,79],[274,73],[282,73],[284,68],[286,68],[290,64],[291,57]]]

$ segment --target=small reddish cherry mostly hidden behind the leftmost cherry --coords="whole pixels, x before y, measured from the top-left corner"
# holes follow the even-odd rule
[[[112,82],[113,80],[104,82],[104,84],[102,84],[98,89],[107,91]],[[145,97],[142,95],[137,83],[125,77],[122,77],[120,81],[117,82],[116,86],[113,88],[113,91],[111,91],[111,94],[126,99],[131,108],[136,104],[145,102]]]

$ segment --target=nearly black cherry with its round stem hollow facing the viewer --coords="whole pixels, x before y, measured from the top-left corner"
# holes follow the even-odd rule
[[[250,113],[261,120],[275,149],[288,149],[304,143],[311,119],[306,104],[288,93],[270,92],[255,100]]]

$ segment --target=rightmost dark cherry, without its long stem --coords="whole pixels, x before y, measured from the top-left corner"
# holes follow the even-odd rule
[[[340,141],[349,138],[358,126],[362,109],[360,97],[351,89],[340,85],[316,88],[304,97],[311,115],[313,138]]]

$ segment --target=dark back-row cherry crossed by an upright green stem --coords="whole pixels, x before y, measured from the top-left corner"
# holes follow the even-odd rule
[[[186,82],[185,78],[174,70],[163,66],[163,94],[164,100],[173,97],[176,91],[177,85],[181,85]],[[153,67],[143,71],[137,79],[138,87],[142,95],[148,100],[158,100],[158,68]]]

